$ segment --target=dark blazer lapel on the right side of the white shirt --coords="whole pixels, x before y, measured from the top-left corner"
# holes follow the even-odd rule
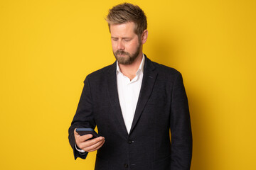
[[[144,76],[142,79],[142,87],[139,93],[139,99],[138,99],[138,103],[134,113],[134,120],[132,122],[132,128],[129,134],[132,133],[132,130],[137,124],[140,115],[142,115],[142,111],[144,110],[146,102],[149,100],[151,91],[153,90],[154,82],[156,81],[156,77],[157,77],[157,72],[154,69],[155,69],[154,64],[151,62],[151,60],[149,60],[146,57],[145,64],[144,64]]]

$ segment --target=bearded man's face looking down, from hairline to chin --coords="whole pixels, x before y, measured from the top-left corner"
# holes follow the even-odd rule
[[[133,22],[110,26],[112,50],[119,64],[132,64],[142,52]]]

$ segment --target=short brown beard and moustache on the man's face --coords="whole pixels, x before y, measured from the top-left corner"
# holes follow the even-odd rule
[[[137,57],[139,56],[139,51],[140,51],[141,46],[142,45],[139,44],[136,52],[132,55],[129,52],[125,52],[124,50],[117,50],[116,52],[113,52],[114,57],[116,58],[116,60],[119,64],[123,64],[123,65],[132,64],[134,62],[134,60],[136,60]],[[119,57],[118,55],[127,55],[127,57]]]

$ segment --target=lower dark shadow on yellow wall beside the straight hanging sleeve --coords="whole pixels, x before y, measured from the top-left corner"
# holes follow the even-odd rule
[[[191,126],[193,134],[193,157],[191,170],[205,170],[213,168],[214,146],[210,146],[213,126],[208,120],[208,106],[204,96],[197,93],[200,89],[187,87],[188,104],[191,114]],[[216,167],[216,166],[215,166]]]

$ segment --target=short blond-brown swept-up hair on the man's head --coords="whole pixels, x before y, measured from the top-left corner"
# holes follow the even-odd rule
[[[134,33],[140,37],[147,28],[146,15],[142,8],[133,4],[124,3],[110,9],[106,21],[110,25],[134,22]]]

